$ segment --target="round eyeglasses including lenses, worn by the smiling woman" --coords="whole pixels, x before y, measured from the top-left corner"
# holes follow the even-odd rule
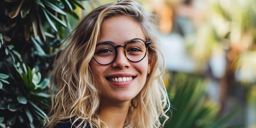
[[[148,51],[151,41],[144,41],[141,38],[128,40],[125,45],[114,46],[110,42],[102,42],[96,45],[94,60],[101,65],[108,65],[117,58],[117,48],[123,47],[126,58],[131,62],[141,61]]]

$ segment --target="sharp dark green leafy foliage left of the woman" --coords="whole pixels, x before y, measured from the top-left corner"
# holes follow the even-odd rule
[[[50,105],[49,72],[78,19],[77,0],[0,0],[0,128],[38,128]]]

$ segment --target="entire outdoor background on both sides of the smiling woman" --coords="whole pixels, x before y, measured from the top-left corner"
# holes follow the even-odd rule
[[[256,0],[138,0],[159,16],[164,128],[256,128]],[[0,0],[0,128],[42,127],[59,45],[117,0]]]

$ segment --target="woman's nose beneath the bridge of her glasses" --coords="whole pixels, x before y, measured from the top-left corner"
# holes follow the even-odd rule
[[[130,61],[126,58],[123,47],[117,49],[117,57],[113,62],[112,67],[119,69],[130,67]]]

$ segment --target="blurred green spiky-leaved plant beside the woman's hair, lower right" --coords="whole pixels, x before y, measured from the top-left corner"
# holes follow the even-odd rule
[[[208,97],[206,89],[207,81],[199,76],[175,74],[167,89],[172,117],[164,128],[242,128],[228,125],[236,110],[219,117],[220,106]]]

